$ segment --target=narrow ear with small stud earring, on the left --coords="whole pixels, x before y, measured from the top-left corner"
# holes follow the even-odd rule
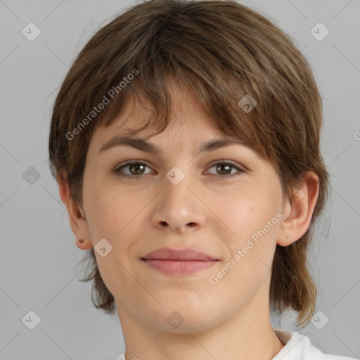
[[[70,195],[68,179],[59,172],[56,176],[56,181],[58,183],[60,198],[68,209],[70,226],[72,232],[75,234],[76,245],[79,249],[88,250],[92,248],[92,243],[87,220]],[[84,242],[79,243],[79,239],[84,240]]]

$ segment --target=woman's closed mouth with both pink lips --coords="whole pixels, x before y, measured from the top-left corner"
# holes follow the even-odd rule
[[[193,249],[163,248],[141,257],[141,261],[164,274],[184,276],[208,269],[216,264],[219,259]]]

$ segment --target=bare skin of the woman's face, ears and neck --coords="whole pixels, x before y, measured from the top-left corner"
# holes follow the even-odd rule
[[[308,172],[290,205],[274,167],[254,150],[233,144],[198,153],[200,143],[224,136],[191,91],[174,82],[171,89],[172,121],[165,131],[148,139],[162,149],[159,156],[127,146],[99,153],[115,134],[136,129],[149,115],[128,98],[116,121],[96,129],[91,139],[82,212],[70,197],[68,181],[58,176],[72,231],[77,239],[84,239],[84,243],[77,241],[77,247],[88,250],[101,238],[113,246],[105,257],[95,254],[103,281],[115,297],[127,360],[134,356],[141,360],[271,359],[284,346],[270,322],[271,262],[276,244],[290,245],[309,228],[319,178]],[[137,136],[143,139],[152,133],[146,129]],[[131,166],[125,167],[123,172],[131,179],[115,174],[127,160],[146,162],[148,167],[137,173],[133,169],[135,175]],[[214,166],[219,160],[232,160],[238,168],[221,173]],[[174,166],[186,175],[177,185],[165,176]],[[282,219],[226,276],[210,283],[210,276],[277,213]],[[188,276],[162,274],[141,262],[148,252],[165,247],[193,248],[219,261]],[[174,310],[184,319],[176,329],[167,322]]]

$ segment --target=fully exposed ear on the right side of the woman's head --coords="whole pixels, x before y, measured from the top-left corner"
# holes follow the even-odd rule
[[[276,243],[288,246],[299,240],[309,229],[319,195],[319,176],[315,172],[307,172],[302,179],[291,203],[288,201],[283,209],[283,220]]]

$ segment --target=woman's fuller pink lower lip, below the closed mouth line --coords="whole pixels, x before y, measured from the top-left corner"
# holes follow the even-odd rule
[[[190,275],[200,270],[204,270],[214,265],[217,260],[197,261],[197,260],[143,260],[153,269],[162,271],[168,275]]]

